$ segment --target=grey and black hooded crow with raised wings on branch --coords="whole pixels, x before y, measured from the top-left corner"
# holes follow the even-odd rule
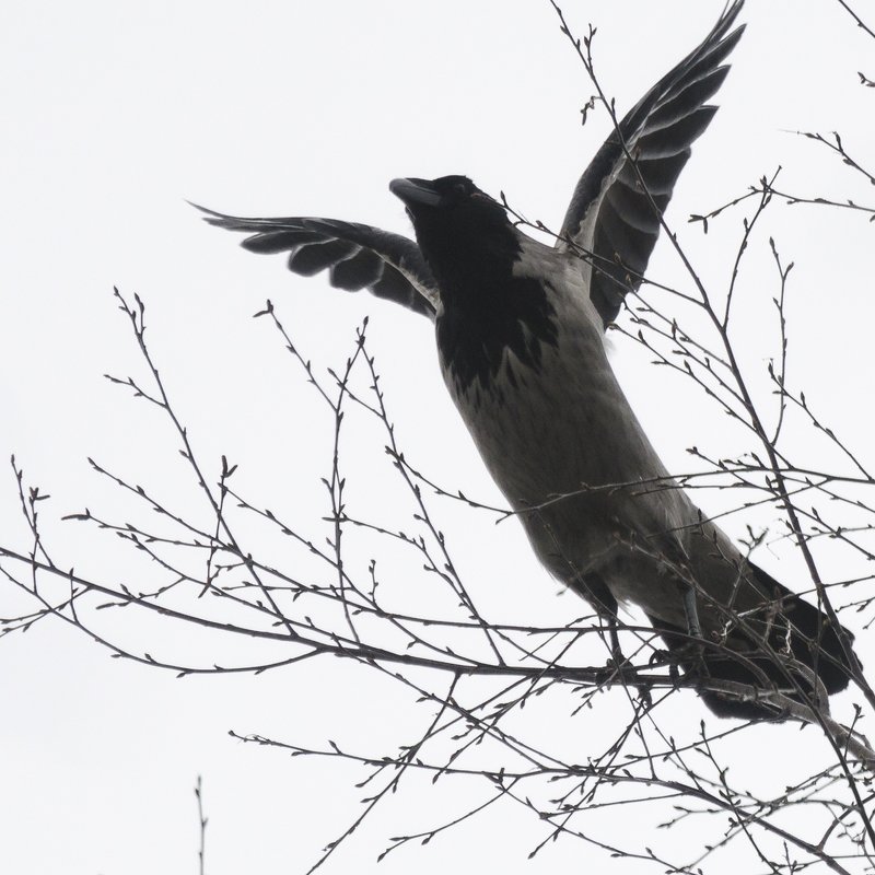
[[[750,562],[670,478],[608,363],[604,334],[642,281],[675,183],[716,107],[743,0],[626,115],[580,178],[550,247],[465,176],[395,179],[416,242],[315,218],[207,221],[291,270],[435,324],[446,386],[541,562],[607,623],[646,615],[721,716],[826,707],[852,637]],[[709,688],[710,681],[710,688]],[[721,688],[720,682],[730,681]],[[745,686],[740,686],[745,685]],[[770,695],[771,693],[771,695]],[[780,695],[779,695],[780,693]]]

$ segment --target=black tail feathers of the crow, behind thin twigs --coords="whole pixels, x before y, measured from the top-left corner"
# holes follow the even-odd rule
[[[702,650],[693,654],[695,649],[684,629],[649,616],[669,653],[678,657],[685,670],[698,670],[704,681],[712,678],[745,684],[762,691],[780,689],[797,702],[804,702],[806,698],[810,700],[816,691],[812,678],[798,667],[794,670],[794,664],[801,664],[816,675],[828,695],[843,690],[859,670],[859,661],[851,652],[849,662],[839,634],[826,614],[756,565],[750,564],[750,569],[758,588],[769,595],[758,611],[760,616],[751,617],[748,612],[744,627],[746,630],[761,628],[763,634],[757,639],[756,634],[739,627],[723,641],[705,641]],[[841,630],[850,646],[853,634],[843,627]],[[768,641],[768,648],[765,641]],[[763,682],[765,679],[768,682]],[[742,700],[711,690],[703,690],[700,695],[718,716],[743,720],[786,718],[780,707],[769,703],[768,698],[762,701]]]

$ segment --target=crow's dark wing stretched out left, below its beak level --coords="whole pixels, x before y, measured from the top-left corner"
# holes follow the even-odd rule
[[[254,253],[289,253],[289,269],[304,277],[328,270],[331,285],[368,289],[434,319],[438,283],[419,246],[400,234],[334,219],[242,219],[192,205],[205,221],[252,236],[243,247]]]

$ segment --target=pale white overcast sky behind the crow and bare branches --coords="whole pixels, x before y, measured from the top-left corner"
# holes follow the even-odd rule
[[[859,7],[865,14],[866,4]],[[587,23],[598,27],[597,71],[622,113],[704,36],[722,3],[568,0],[564,8],[579,35]],[[875,40],[827,0],[750,0],[742,18],[748,30],[718,97],[722,108],[695,147],[668,213],[718,289],[725,288],[744,213],[716,222],[708,236],[686,223],[689,213],[743,194],[779,164],[791,191],[875,200],[875,189],[786,132],[840,130],[866,163],[875,149],[875,90],[860,86],[856,71],[875,77]],[[14,452],[28,480],[51,493],[42,510],[59,564],[108,580],[125,568],[112,539],[55,523],[84,505],[124,518],[128,504],[98,481],[86,456],[183,506],[194,495],[177,482],[166,424],[102,377],[141,373],[114,284],[145,300],[153,353],[212,470],[225,453],[241,464],[240,487],[308,530],[325,534],[318,477],[330,423],[267,323],[250,318],[266,298],[319,368],[342,365],[370,315],[370,349],[410,459],[438,482],[500,503],[442,386],[425,319],[331,290],[324,278],[294,277],[281,257],[245,253],[185,200],[409,233],[388,180],[465,173],[558,226],[608,130],[604,110],[580,125],[592,92],[547,0],[8,4],[0,31],[0,459]],[[873,226],[851,211],[775,206],[767,215],[742,276],[752,301],[739,331],[745,364],[760,371],[774,351],[774,326],[757,315],[770,312],[777,291],[769,234],[796,262],[793,377],[824,420],[873,462]],[[665,241],[650,276],[687,282]],[[689,467],[685,450],[693,443],[715,455],[737,451],[737,434],[700,395],[649,366],[633,345],[617,338],[614,346],[623,385],[669,468]],[[361,444],[348,435],[346,453],[358,506],[399,513],[374,470],[374,459],[383,464],[378,433],[365,429]],[[16,501],[11,469],[0,469],[2,542],[25,547]],[[556,584],[515,523],[494,527],[453,503],[436,508],[467,579],[505,619],[561,622],[581,612],[553,597]],[[751,514],[727,528],[744,532],[747,522],[775,520]],[[802,574],[798,557],[780,545],[760,561],[791,586]],[[0,583],[0,615],[22,604]],[[160,623],[126,628],[101,619],[132,646],[190,645],[202,662],[222,660],[210,639],[176,641],[179,630]],[[866,633],[860,652],[875,665]],[[679,720],[707,716],[692,693],[675,699]],[[602,701],[610,709],[619,699]],[[398,725],[411,727],[409,739],[424,718],[397,690],[350,666],[176,680],[110,660],[60,622],[0,640],[0,867],[14,875],[196,872],[198,773],[210,875],[303,872],[358,810],[361,791],[352,784],[363,774],[243,745],[228,731],[317,746],[336,738],[380,754]],[[836,709],[847,715],[850,699]],[[557,714],[557,739],[579,746],[582,761],[587,737],[569,738],[564,714]],[[791,726],[759,727],[745,744],[739,754],[751,773],[772,767],[775,751],[825,752],[815,732]],[[768,747],[766,759],[757,744]],[[464,793],[455,798],[464,804]],[[377,871],[376,854],[399,822],[436,825],[444,802],[425,782],[399,792],[325,871]],[[628,838],[628,822],[616,827]],[[493,809],[427,848],[396,852],[378,871],[557,873],[609,862],[569,840],[527,863],[542,837],[523,812]],[[615,863],[612,871],[653,867]]]

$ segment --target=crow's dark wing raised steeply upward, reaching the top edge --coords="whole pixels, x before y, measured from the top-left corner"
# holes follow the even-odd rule
[[[743,3],[734,0],[702,44],[638,102],[574,189],[557,245],[570,240],[592,259],[590,296],[605,326],[641,285],[690,145],[716,112],[705,101],[728,72],[721,63],[744,31],[728,33]]]

